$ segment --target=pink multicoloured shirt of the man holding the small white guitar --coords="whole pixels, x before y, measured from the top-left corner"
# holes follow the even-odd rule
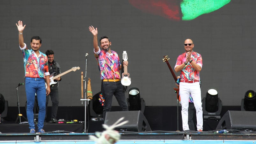
[[[98,55],[100,79],[120,79],[119,66],[121,63],[118,54],[113,50],[111,50],[111,54],[101,50]]]

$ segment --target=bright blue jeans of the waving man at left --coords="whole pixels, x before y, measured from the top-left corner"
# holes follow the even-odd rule
[[[35,129],[34,124],[34,103],[35,94],[38,100],[39,112],[38,112],[38,129],[43,129],[44,117],[45,117],[45,102],[46,102],[46,89],[44,78],[25,78],[25,89],[27,96],[27,119],[29,129]]]

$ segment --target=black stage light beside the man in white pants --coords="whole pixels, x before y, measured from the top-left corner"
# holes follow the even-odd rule
[[[218,98],[218,90],[210,87],[206,97],[202,99],[203,119],[221,119],[222,101]]]

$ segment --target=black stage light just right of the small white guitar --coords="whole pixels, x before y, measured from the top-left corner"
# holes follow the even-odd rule
[[[129,111],[141,111],[144,113],[145,101],[140,97],[140,90],[138,88],[129,89],[129,98],[127,99]]]

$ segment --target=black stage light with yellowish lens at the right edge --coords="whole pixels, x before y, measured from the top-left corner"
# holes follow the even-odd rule
[[[256,97],[253,90],[245,92],[245,98],[241,102],[241,111],[256,111]]]

